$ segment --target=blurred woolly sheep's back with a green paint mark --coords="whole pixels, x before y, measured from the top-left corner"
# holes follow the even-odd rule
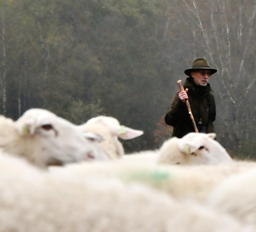
[[[136,160],[136,159],[134,159]],[[68,164],[52,168],[52,173],[66,173],[72,178],[101,175],[119,178],[127,183],[142,183],[164,191],[176,200],[194,199],[203,202],[211,190],[228,176],[256,168],[254,162],[233,162],[218,165],[159,165],[151,162],[111,160]]]

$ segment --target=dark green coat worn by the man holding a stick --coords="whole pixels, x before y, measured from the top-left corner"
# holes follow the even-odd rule
[[[201,87],[195,84],[192,77],[188,77],[184,83],[184,89],[186,88],[189,89],[189,104],[199,132],[201,132],[199,121],[205,133],[214,132],[213,122],[216,117],[216,108],[210,84]],[[189,132],[195,132],[195,129],[186,104],[179,99],[179,92],[174,94],[173,102],[165,115],[165,123],[174,127],[173,137],[181,138]]]

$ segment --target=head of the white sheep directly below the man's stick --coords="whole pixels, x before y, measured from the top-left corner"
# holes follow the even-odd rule
[[[232,162],[232,158],[215,137],[215,133],[189,133],[181,139],[171,138],[160,148],[160,162],[168,164]]]

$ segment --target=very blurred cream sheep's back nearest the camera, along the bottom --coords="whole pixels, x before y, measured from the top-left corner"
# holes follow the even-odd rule
[[[116,178],[74,179],[0,154],[0,231],[253,232],[194,201]]]

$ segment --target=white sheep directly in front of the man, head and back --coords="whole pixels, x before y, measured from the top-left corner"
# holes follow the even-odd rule
[[[125,154],[125,162],[147,162],[152,164],[220,164],[232,163],[227,151],[214,140],[215,133],[189,133],[183,138],[170,138],[156,150]]]

